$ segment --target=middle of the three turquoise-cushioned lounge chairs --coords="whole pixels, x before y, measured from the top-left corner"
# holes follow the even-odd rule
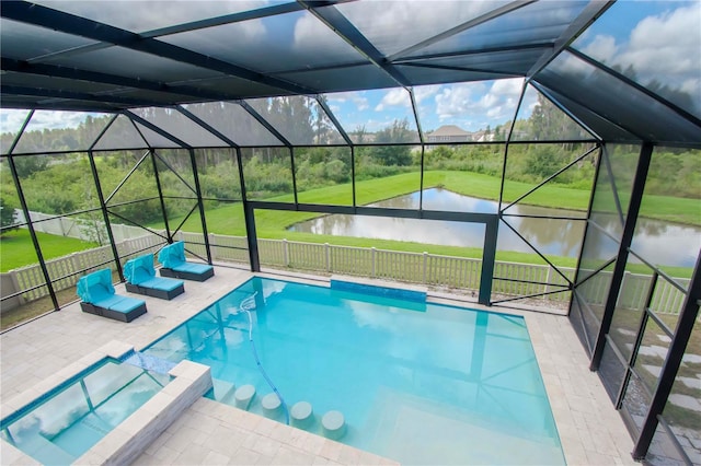
[[[147,296],[172,300],[185,291],[183,280],[156,277],[153,254],[127,260],[124,265],[127,291]]]

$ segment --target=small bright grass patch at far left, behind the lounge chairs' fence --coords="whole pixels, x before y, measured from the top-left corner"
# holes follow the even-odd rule
[[[37,232],[36,237],[45,260],[97,246],[95,243],[47,233]],[[0,271],[5,272],[37,263],[28,230],[19,229],[0,236]]]

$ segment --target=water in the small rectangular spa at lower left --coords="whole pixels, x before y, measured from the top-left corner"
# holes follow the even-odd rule
[[[106,359],[3,419],[0,436],[42,464],[68,465],[169,381],[168,375]]]

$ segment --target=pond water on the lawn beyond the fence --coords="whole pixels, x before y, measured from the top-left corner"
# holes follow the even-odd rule
[[[399,196],[371,203],[370,207],[418,209],[420,194]],[[424,190],[425,210],[496,213],[497,202],[458,195],[446,189]],[[559,215],[583,219],[585,213],[563,209],[549,209],[516,205],[506,210],[509,215]],[[604,221],[609,219],[610,221]],[[532,219],[505,217],[505,220],[545,256],[577,257],[582,245],[583,220]],[[597,215],[597,222],[616,234],[618,218]],[[335,236],[372,237],[445,246],[482,247],[484,225],[438,220],[392,219],[386,217],[333,214],[320,217],[290,228],[291,231]],[[618,229],[620,230],[620,228]],[[633,249],[653,264],[692,267],[701,245],[701,229],[669,224],[656,220],[639,219]],[[501,223],[497,248],[532,253],[533,251],[507,225]],[[600,245],[600,258],[617,254],[618,246],[608,241]]]

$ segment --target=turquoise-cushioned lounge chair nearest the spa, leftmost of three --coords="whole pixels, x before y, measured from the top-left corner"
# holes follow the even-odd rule
[[[77,293],[83,312],[115,321],[131,322],[146,314],[146,302],[115,294],[112,270],[101,269],[78,280]]]

